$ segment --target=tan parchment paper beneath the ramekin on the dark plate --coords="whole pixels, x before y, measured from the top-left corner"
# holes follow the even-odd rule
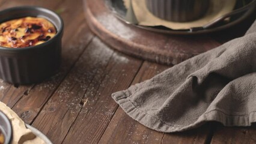
[[[123,0],[123,1],[124,1],[124,5],[126,5],[126,8],[129,10],[130,0]],[[192,22],[179,23],[179,22],[170,22],[167,20],[163,20],[151,14],[150,11],[147,9],[145,0],[131,0],[131,1],[132,1],[133,11],[135,13],[136,19],[138,20],[138,25],[165,26],[171,29],[189,29],[189,28],[204,26],[207,23],[217,19],[218,17],[223,16],[224,14],[230,13],[236,4],[236,0],[212,0],[210,1],[211,6],[209,8],[209,11],[207,11],[204,17]]]

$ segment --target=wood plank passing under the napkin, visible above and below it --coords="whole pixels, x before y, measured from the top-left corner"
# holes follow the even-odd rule
[[[164,65],[144,62],[132,84],[150,79],[166,68]],[[139,124],[118,107],[99,143],[161,143],[162,137],[163,133]]]

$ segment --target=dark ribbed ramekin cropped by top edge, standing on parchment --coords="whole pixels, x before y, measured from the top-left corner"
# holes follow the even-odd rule
[[[210,0],[146,0],[148,10],[155,16],[172,22],[189,22],[202,17]]]

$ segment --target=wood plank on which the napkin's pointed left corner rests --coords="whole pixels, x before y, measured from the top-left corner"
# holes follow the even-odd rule
[[[140,65],[141,61],[137,59],[124,57],[120,53],[112,55],[102,82],[94,83],[93,81],[93,85],[85,93],[84,99],[87,100],[88,105],[82,107],[64,143],[99,142],[117,109],[117,104],[112,100],[111,94],[126,89],[135,77]],[[83,112],[87,114],[84,115]],[[77,133],[77,131],[81,133]],[[74,135],[76,137],[73,137]]]

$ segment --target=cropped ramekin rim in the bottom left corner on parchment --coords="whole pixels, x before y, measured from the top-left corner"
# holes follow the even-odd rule
[[[7,116],[0,111],[0,131],[4,134],[4,144],[10,144],[13,138],[13,128]]]

